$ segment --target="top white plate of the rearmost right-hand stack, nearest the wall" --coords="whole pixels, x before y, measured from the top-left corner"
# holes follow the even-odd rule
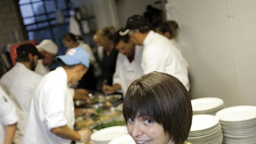
[[[224,101],[217,97],[204,97],[191,100],[193,112],[212,110],[223,105]]]

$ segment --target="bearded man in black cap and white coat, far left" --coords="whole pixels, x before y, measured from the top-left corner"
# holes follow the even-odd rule
[[[22,44],[16,51],[16,64],[1,77],[0,85],[17,108],[18,123],[14,143],[20,143],[34,88],[42,79],[42,76],[33,70],[37,60],[43,56],[32,44]]]

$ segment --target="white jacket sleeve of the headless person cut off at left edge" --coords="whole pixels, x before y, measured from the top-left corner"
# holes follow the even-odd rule
[[[4,96],[5,95],[5,96]],[[3,126],[15,124],[18,121],[16,108],[10,98],[0,87],[0,121]]]

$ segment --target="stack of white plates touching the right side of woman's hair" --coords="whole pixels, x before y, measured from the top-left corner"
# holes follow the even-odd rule
[[[219,119],[209,114],[193,115],[187,141],[192,144],[222,144],[223,134]]]

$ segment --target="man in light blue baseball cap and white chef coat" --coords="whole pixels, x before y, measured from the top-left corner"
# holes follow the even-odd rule
[[[71,140],[90,140],[90,130],[73,130],[74,103],[67,90],[68,83],[75,84],[87,72],[89,54],[82,48],[72,48],[56,59],[63,65],[46,74],[34,91],[23,144],[70,144]],[[96,112],[86,109],[86,114]]]

